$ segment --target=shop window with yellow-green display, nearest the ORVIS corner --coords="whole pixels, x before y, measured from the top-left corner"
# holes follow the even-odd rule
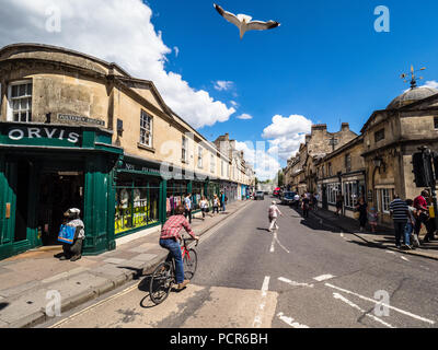
[[[158,182],[119,183],[116,187],[115,234],[158,223],[159,199]]]

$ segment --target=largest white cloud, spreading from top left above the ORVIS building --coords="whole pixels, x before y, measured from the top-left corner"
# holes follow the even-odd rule
[[[168,72],[172,52],[151,23],[152,11],[140,0],[0,0],[0,47],[39,43],[74,49],[114,61],[136,78],[151,80],[166,104],[195,128],[227,121],[235,112],[206,91]],[[56,8],[60,32],[47,31]],[[176,52],[176,51],[175,51]]]

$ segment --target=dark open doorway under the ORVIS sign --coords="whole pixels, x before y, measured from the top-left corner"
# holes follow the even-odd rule
[[[83,217],[83,173],[43,173],[39,182],[37,225],[43,245],[58,245],[58,232],[64,213],[70,208],[81,210]]]

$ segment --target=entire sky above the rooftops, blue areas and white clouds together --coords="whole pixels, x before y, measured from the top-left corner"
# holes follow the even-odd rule
[[[400,74],[411,65],[427,67],[423,84],[438,88],[437,1],[218,0],[281,23],[242,40],[212,3],[0,0],[0,46],[50,44],[117,62],[153,81],[207,139],[229,132],[263,179],[286,165],[312,122],[338,131],[348,121],[359,133],[408,89]],[[378,5],[390,11],[389,33],[374,31]],[[251,119],[238,119],[243,114]],[[264,141],[265,151],[254,154],[245,141]]]

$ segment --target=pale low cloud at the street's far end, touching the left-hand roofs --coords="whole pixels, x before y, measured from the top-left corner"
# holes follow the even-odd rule
[[[235,148],[243,151],[245,161],[253,166],[255,176],[261,180],[274,179],[281,168],[278,156],[274,153],[268,154],[265,145],[264,141],[256,144],[251,141],[235,142]]]

